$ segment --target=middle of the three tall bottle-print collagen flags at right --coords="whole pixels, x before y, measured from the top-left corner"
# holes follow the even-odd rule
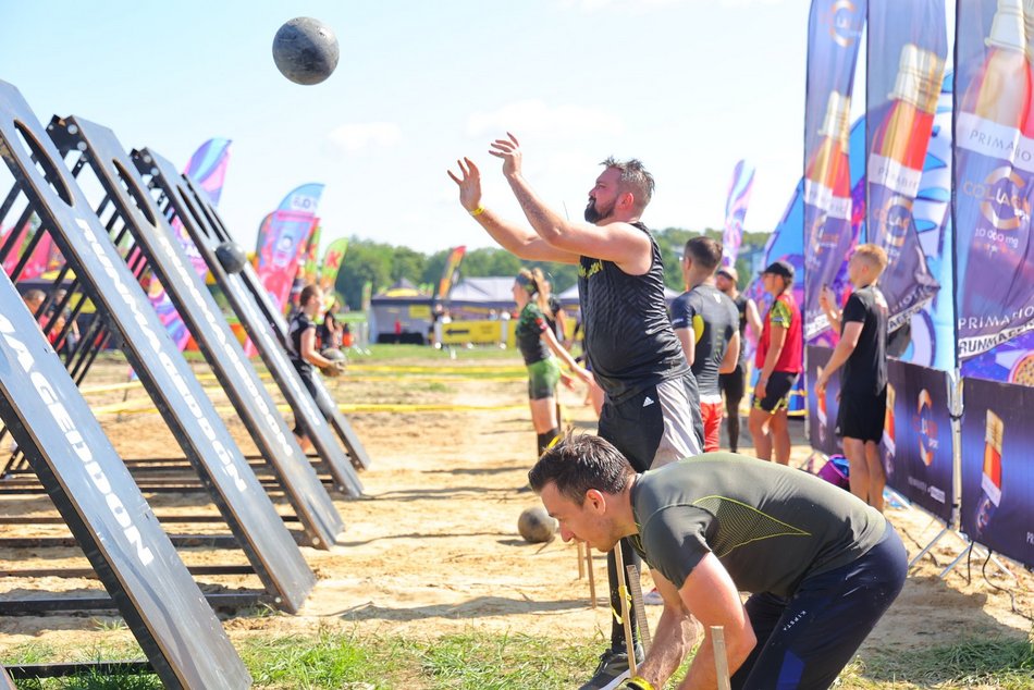
[[[943,0],[869,0],[866,238],[887,251],[879,287],[888,328],[909,322],[940,287],[912,209],[940,97],[948,37]]]

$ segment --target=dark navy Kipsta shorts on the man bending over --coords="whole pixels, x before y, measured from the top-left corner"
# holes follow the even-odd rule
[[[753,594],[744,607],[758,644],[734,690],[828,688],[904,584],[908,554],[890,523],[852,563],[805,577],[789,599]]]

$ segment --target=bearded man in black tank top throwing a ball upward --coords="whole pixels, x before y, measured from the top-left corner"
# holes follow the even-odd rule
[[[661,250],[639,221],[653,194],[653,177],[637,160],[603,162],[589,192],[587,223],[568,221],[542,202],[521,174],[516,137],[496,139],[489,151],[503,160],[503,175],[531,230],[481,205],[481,175],[465,158],[459,201],[505,249],[521,259],[579,266],[578,293],[589,365],[605,392],[600,436],[644,471],[700,453],[703,426],[693,378],[668,322]],[[610,551],[614,544],[610,544]],[[631,547],[626,564],[638,562]],[[623,564],[620,567],[625,567]],[[611,606],[620,611],[617,564],[607,556]],[[633,636],[635,632],[635,619]],[[614,620],[611,649],[583,690],[614,688],[628,676],[625,631]]]

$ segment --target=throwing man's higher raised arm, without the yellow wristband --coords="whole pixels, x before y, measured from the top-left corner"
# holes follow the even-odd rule
[[[517,138],[508,134],[492,143],[489,153],[503,159],[503,175],[520,204],[528,222],[551,247],[578,256],[613,261],[631,275],[650,270],[653,254],[645,233],[627,222],[604,225],[576,223],[551,209],[521,174],[521,151]]]

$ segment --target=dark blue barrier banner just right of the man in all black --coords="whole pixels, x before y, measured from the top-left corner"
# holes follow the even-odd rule
[[[948,374],[891,359],[887,378],[879,444],[887,485],[947,523],[953,471]]]

